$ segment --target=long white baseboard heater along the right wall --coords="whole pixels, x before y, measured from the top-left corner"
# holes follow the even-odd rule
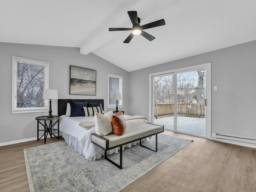
[[[212,139],[222,141],[222,142],[227,142],[227,143],[238,144],[238,145],[242,145],[242,146],[249,146],[249,147],[256,148],[256,138],[255,137],[212,133]]]

